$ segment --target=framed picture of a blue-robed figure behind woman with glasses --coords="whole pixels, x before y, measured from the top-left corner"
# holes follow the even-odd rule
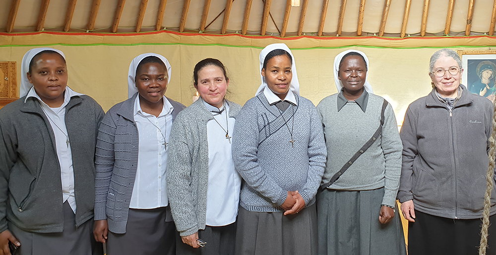
[[[496,50],[458,50],[462,58],[462,84],[474,94],[496,99]]]

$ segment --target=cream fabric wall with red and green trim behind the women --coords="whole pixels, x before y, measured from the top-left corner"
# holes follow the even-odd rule
[[[160,40],[149,40],[146,36],[116,37],[104,36],[68,36],[68,35],[22,35],[2,37],[0,43],[0,61],[17,61],[17,78],[20,81],[20,64],[23,54],[34,46],[22,45],[44,42],[46,44],[57,41],[67,41],[63,45],[52,45],[62,50],[67,58],[69,81],[68,85],[81,93],[95,98],[105,111],[114,104],[126,99],[127,95],[127,70],[130,61],[137,55],[145,52],[156,52],[169,59],[172,65],[172,79],[168,86],[166,95],[174,100],[180,101],[186,106],[192,103],[195,90],[192,87],[192,71],[194,65],[207,57],[220,59],[228,68],[231,78],[228,95],[233,100],[243,105],[249,98],[254,96],[260,85],[260,74],[258,55],[261,47],[283,40],[273,38],[237,37],[237,36],[191,36],[183,38],[175,34],[167,34],[172,43],[162,44],[124,44],[125,42],[164,42]],[[92,44],[95,37],[101,42],[113,42],[113,44]],[[184,41],[189,44],[182,43]],[[330,45],[345,44],[346,40],[340,39],[330,42],[329,40],[316,40],[301,38],[296,40],[284,40],[292,48],[295,56],[298,76],[300,78],[301,95],[309,98],[315,105],[330,94],[336,93],[333,80],[332,63],[334,57],[341,51],[349,48],[361,50],[370,59],[369,82],[372,84],[377,95],[386,98],[394,108],[398,125],[401,125],[408,105],[415,99],[427,95],[431,91],[431,80],[429,78],[429,58],[440,47],[441,42],[452,46],[469,45],[478,43],[479,39],[467,38],[457,39],[457,42],[443,41],[442,39],[422,38],[424,44],[434,43],[435,47],[416,48],[385,48],[371,47],[369,45],[392,45],[401,43],[401,46],[418,45],[419,41],[379,40],[377,38],[353,39],[355,44],[367,46],[341,46],[341,48],[319,48],[314,47],[321,43],[327,47]],[[3,41],[2,41],[3,40]],[[377,41],[378,40],[378,41]],[[486,40],[486,39],[484,39]],[[488,39],[494,40],[494,39]],[[76,44],[78,42],[86,44]],[[200,43],[219,43],[225,45],[201,45]],[[410,43],[411,42],[411,43]],[[474,43],[476,42],[476,43]],[[485,43],[494,41],[484,41]],[[15,43],[15,44],[14,44]],[[192,44],[194,43],[194,44]],[[238,43],[239,45],[229,45]],[[427,44],[428,44],[427,43]],[[11,44],[11,45],[8,45]],[[426,44],[426,45],[427,45]],[[306,45],[312,46],[305,48]],[[397,45],[395,45],[397,46]],[[452,47],[458,49],[488,49],[488,47]]]

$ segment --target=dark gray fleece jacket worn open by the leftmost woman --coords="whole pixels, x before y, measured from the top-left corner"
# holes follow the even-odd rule
[[[0,232],[7,220],[30,232],[62,232],[61,170],[40,103],[25,96],[0,110]],[[102,107],[87,95],[65,106],[77,203],[76,227],[93,217],[95,144]]]

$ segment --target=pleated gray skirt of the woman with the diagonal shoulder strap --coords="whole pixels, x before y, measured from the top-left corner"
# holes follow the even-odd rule
[[[401,219],[379,222],[384,188],[317,193],[319,255],[406,255]]]

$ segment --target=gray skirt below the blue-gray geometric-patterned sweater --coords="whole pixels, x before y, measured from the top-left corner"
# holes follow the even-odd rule
[[[315,205],[298,214],[249,212],[240,207],[236,254],[316,255]]]

